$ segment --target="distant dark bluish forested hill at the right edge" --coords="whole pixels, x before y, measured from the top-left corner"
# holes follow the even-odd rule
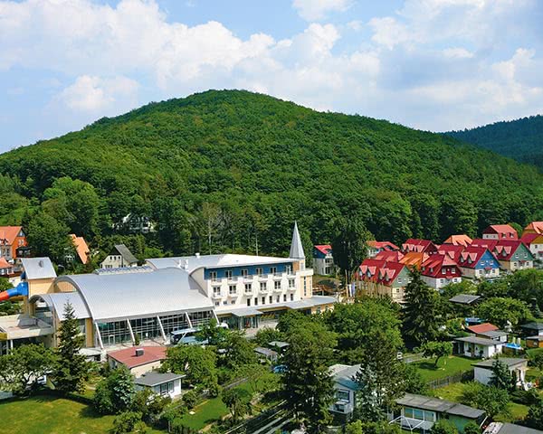
[[[543,116],[496,122],[463,131],[446,133],[522,163],[537,165],[543,172]]]

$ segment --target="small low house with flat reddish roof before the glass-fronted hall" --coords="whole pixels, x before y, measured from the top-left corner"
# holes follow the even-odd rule
[[[108,353],[112,369],[123,364],[136,376],[157,370],[166,359],[166,346],[135,346]]]

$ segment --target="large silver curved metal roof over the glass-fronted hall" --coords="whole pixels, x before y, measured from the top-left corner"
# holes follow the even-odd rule
[[[213,308],[185,269],[61,276],[83,297],[94,321],[168,315]]]

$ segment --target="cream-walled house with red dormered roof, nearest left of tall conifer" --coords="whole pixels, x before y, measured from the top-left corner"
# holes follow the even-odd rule
[[[388,296],[396,303],[404,302],[405,286],[411,281],[404,264],[379,259],[364,259],[358,277],[364,282],[366,294]]]

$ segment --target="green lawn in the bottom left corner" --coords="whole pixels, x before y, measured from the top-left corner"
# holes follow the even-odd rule
[[[0,403],[0,434],[104,434],[114,419],[100,416],[80,402],[52,396]]]

